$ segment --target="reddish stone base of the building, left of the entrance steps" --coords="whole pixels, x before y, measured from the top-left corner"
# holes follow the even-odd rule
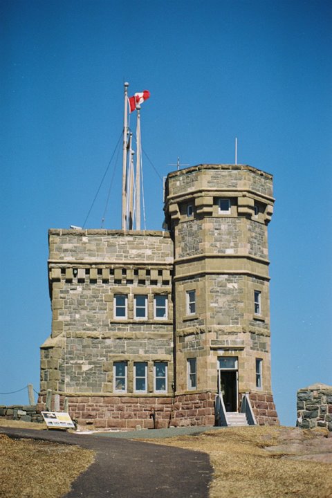
[[[67,396],[69,414],[79,425],[98,428],[153,429],[151,414],[156,415],[156,428],[187,425],[214,425],[214,394],[184,394],[172,398],[135,396]],[[46,396],[39,397],[44,409]],[[64,398],[60,398],[60,409]]]

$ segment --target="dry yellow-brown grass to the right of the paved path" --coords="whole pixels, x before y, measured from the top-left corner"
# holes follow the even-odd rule
[[[239,427],[151,442],[208,453],[214,468],[210,498],[331,498],[331,464],[283,459],[284,454],[264,450],[280,443],[282,431]]]

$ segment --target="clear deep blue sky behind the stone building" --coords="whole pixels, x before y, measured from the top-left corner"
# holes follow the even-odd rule
[[[269,225],[273,391],[332,384],[332,3],[324,0],[1,0],[0,392],[39,389],[50,333],[48,228],[83,225],[142,106],[147,228],[176,163],[238,162],[275,178]],[[111,180],[113,176],[113,182]],[[120,228],[114,155],[86,228]],[[26,391],[0,404],[26,403]]]

